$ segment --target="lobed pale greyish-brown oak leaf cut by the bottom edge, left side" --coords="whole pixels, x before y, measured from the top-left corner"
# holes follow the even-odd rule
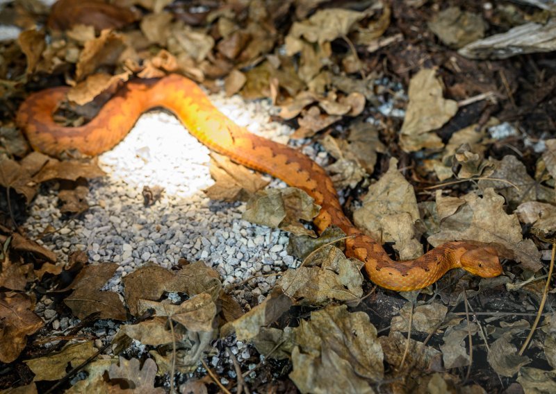
[[[140,368],[138,359],[126,360],[120,356],[120,366],[112,364],[108,370],[110,379],[123,380],[133,393],[138,394],[163,394],[165,389],[154,387],[156,377],[156,363],[153,359],[146,359],[143,368]]]

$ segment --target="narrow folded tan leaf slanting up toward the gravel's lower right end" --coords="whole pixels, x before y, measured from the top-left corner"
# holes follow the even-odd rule
[[[284,294],[280,286],[275,286],[268,297],[240,318],[226,323],[220,330],[220,336],[236,333],[238,341],[247,341],[259,334],[261,327],[274,323],[284,312],[290,309],[292,300]]]

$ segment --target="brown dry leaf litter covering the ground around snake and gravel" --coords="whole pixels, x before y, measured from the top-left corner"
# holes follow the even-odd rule
[[[234,341],[252,344],[265,357],[239,366],[255,391],[295,384],[301,392],[371,393],[386,386],[446,392],[461,382],[468,391],[497,391],[496,374],[504,386],[554,391],[554,373],[544,367],[555,366],[554,329],[547,327],[556,319],[545,316],[546,325],[535,332],[537,349],[525,355],[517,346],[531,326],[512,319],[515,311],[527,315],[538,307],[530,295],[543,296],[534,280],[546,270],[555,232],[556,140],[547,138],[553,105],[541,89],[550,86],[546,62],[531,67],[516,55],[553,51],[554,23],[534,8],[538,2],[531,8],[495,4],[493,12],[423,1],[392,8],[378,0],[341,8],[321,0],[199,2],[195,12],[167,0],[131,3],[136,6],[63,0],[49,10],[15,1],[0,10],[2,20],[26,29],[0,45],[0,193],[7,196],[0,199],[0,355],[10,363],[1,388],[18,382],[33,392],[47,387],[41,381],[62,382],[68,368],[102,348],[102,341],[83,336],[56,352],[40,345],[59,344],[56,335],[63,335],[56,332],[58,320],[35,306],[35,297],[55,291],[63,301],[55,301],[56,310],[66,318],[97,316],[96,324],[114,327],[113,337],[104,339],[113,352],[105,348],[104,359],[83,366],[86,377],[72,381],[70,392],[165,392],[176,371],[182,390],[206,392],[214,384],[233,390],[236,382],[240,387],[237,372],[230,368],[224,377],[226,368],[213,360]],[[37,17],[48,21],[47,29],[33,28]],[[491,67],[456,49],[468,58],[514,56],[515,62]],[[72,153],[63,160],[27,154],[10,100],[47,86],[45,74],[57,76],[56,85],[72,86],[67,108],[80,115],[67,124],[76,125],[122,81],[168,72],[211,91],[221,78],[227,95],[270,99],[296,128],[295,144],[327,151],[325,168],[341,189],[345,211],[396,257],[422,255],[425,238],[431,246],[464,239],[495,247],[507,259],[508,276],[481,281],[479,290],[473,279],[461,280],[451,286],[451,298],[444,289],[425,289],[416,305],[402,306],[400,298],[371,289],[361,263],[345,259],[345,234],[327,229],[315,238],[309,223],[319,207],[304,193],[263,190],[266,180],[217,155],[208,196],[249,200],[244,219],[291,232],[288,253],[303,260],[282,273],[264,300],[254,298],[242,309],[204,262],[181,261],[172,271],[142,266],[123,277],[119,289],[107,286],[115,263],[90,264],[85,256],[74,266],[55,265],[43,240],[29,239],[17,226],[22,212],[36,194],[54,189],[60,212],[79,220],[89,208],[87,180],[104,174]],[[520,110],[525,102],[534,103],[532,115]],[[525,132],[498,139],[492,128],[500,124]],[[430,188],[439,186],[435,195]],[[531,282],[514,286],[510,300],[498,289],[509,280]],[[256,277],[234,286],[255,283]],[[457,307],[457,291],[466,291],[483,315],[470,321],[461,305],[452,314],[440,303],[455,300],[450,305]],[[387,321],[378,313],[384,309],[384,316],[398,316]],[[44,326],[48,331],[37,334]],[[138,349],[133,343],[142,350],[118,359]],[[32,372],[21,375],[22,368]],[[480,372],[475,383],[461,372],[466,368]],[[190,373],[198,380],[183,375]]]

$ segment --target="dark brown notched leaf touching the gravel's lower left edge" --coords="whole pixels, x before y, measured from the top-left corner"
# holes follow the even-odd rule
[[[117,267],[114,263],[102,263],[81,270],[70,285],[74,291],[64,300],[75,316],[83,319],[98,312],[101,319],[126,320],[127,313],[120,296],[112,291],[100,291]]]

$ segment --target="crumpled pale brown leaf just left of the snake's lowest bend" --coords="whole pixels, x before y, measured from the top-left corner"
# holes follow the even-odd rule
[[[357,301],[363,295],[362,267],[359,260],[347,259],[340,249],[329,245],[316,250],[304,266],[286,271],[277,283],[302,305]]]

